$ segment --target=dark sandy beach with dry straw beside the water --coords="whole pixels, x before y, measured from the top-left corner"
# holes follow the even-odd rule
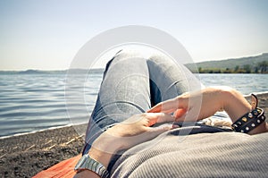
[[[268,92],[257,95],[268,114]],[[80,125],[86,127],[86,125]],[[71,126],[0,139],[0,176],[31,177],[82,151],[83,135]]]

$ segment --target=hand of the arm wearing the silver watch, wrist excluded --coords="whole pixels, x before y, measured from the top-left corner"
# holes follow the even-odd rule
[[[151,127],[155,123],[172,123],[174,121],[175,118],[171,114],[136,114],[126,121],[114,125],[111,129],[105,131],[105,134],[114,138],[113,143],[116,140],[118,149],[127,149],[147,140],[152,140],[160,133],[172,129],[171,125],[168,124]]]

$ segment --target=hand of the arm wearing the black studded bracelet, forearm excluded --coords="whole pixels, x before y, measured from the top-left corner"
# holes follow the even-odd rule
[[[163,101],[147,112],[174,113],[176,122],[196,122],[221,110],[224,101],[223,89],[206,88]]]

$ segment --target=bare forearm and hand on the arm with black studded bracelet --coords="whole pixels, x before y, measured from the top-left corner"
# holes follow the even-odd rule
[[[239,91],[228,87],[206,88],[200,91],[186,93],[179,97],[163,101],[148,112],[163,112],[175,114],[176,121],[198,121],[205,119],[219,110],[225,110],[234,123],[243,114],[251,111],[251,106]],[[262,123],[249,134],[268,131],[267,123]]]

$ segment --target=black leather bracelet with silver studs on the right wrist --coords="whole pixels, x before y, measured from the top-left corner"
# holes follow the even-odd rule
[[[231,125],[231,127],[234,131],[247,133],[254,130],[261,123],[264,123],[264,121],[264,109],[256,107],[251,112],[240,117],[239,120]]]

